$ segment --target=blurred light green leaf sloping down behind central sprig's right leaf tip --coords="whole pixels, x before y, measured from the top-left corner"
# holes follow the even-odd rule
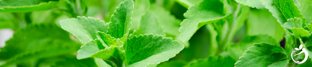
[[[163,28],[165,34],[167,34],[166,37],[172,37],[173,40],[182,41],[180,37],[181,33],[179,32],[181,20],[175,18],[170,11],[165,10],[163,7],[157,6],[156,4],[151,5],[149,10],[158,18],[159,25]],[[185,48],[188,48],[188,41],[181,43],[185,46]]]

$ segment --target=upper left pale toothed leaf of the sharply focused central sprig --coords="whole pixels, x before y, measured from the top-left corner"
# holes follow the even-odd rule
[[[96,32],[107,32],[108,23],[92,17],[65,19],[60,21],[62,29],[76,36],[83,44],[96,38]]]

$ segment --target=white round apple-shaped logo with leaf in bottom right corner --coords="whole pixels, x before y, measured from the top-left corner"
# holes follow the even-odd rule
[[[295,48],[296,50],[301,50],[302,49],[302,44],[299,46],[299,49],[298,48]],[[294,52],[297,52],[297,51],[293,51],[292,53]],[[307,61],[308,59],[308,56],[309,56],[309,53],[307,50],[305,50],[305,48],[302,49],[302,51],[296,55],[299,55],[301,53],[305,53],[305,59],[303,59],[303,61],[295,61],[294,58],[292,57],[292,53],[291,53],[291,59],[293,59],[294,62],[296,62],[297,64],[301,64],[301,63],[304,63],[305,61]],[[295,55],[295,56],[296,56]]]

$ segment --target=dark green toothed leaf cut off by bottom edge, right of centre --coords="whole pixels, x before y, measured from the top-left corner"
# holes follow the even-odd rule
[[[186,67],[233,67],[236,61],[228,57],[208,57],[205,60],[199,60],[197,62],[191,63]]]

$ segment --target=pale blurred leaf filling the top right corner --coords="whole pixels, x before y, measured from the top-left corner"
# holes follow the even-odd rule
[[[300,13],[303,15],[304,18],[306,18],[305,23],[310,24],[312,21],[312,3],[311,0],[299,0],[298,1],[301,6],[298,7],[300,10]]]

